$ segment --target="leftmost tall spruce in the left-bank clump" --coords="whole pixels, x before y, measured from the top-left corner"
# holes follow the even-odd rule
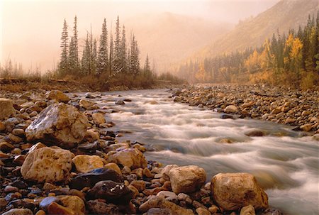
[[[63,28],[62,28],[62,35],[61,35],[61,45],[60,48],[62,50],[61,55],[60,55],[60,64],[59,64],[59,72],[60,75],[63,77],[67,75],[67,72],[69,70],[69,65],[68,65],[68,52],[67,48],[69,47],[69,36],[67,32],[67,21],[63,23]]]

